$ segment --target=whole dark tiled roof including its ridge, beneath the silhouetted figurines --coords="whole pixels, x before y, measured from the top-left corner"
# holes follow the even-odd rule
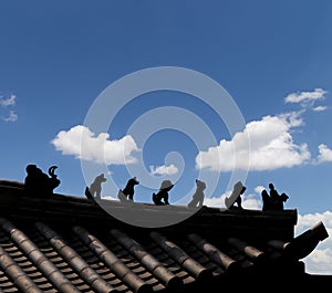
[[[294,237],[295,224],[297,210],[205,207],[178,224],[139,228],[86,198],[27,197],[20,182],[2,180],[0,292],[221,292],[297,280],[328,233],[318,222]]]

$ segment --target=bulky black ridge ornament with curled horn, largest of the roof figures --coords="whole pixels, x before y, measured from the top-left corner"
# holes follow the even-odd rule
[[[29,196],[49,197],[53,189],[60,185],[55,175],[58,166],[49,168],[49,175],[44,174],[37,165],[30,164],[25,167],[27,177],[24,179],[24,191]]]

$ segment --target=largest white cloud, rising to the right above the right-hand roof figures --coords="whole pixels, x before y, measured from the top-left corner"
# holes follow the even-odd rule
[[[307,144],[297,145],[291,130],[303,124],[301,112],[264,116],[246,125],[232,140],[220,140],[216,147],[199,151],[197,168],[215,171],[234,169],[272,170],[307,163],[311,155]],[[250,148],[248,147],[248,138]]]

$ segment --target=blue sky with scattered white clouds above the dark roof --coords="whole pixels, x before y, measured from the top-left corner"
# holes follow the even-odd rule
[[[98,166],[102,144],[112,149],[107,176],[120,188],[143,158],[153,184],[136,188],[137,200],[151,201],[167,177],[175,181],[175,202],[190,196],[204,175],[220,177],[212,191],[209,185],[206,190],[206,205],[220,207],[232,170],[246,169],[241,160],[249,159],[243,207],[260,209],[260,191],[273,182],[290,197],[286,208],[298,209],[297,233],[322,220],[332,234],[331,1],[32,0],[2,1],[0,11],[0,178],[23,181],[30,163],[44,171],[58,165],[56,191],[83,196],[87,182],[77,157]],[[240,109],[243,128],[230,135],[214,105],[173,91],[137,96],[105,132],[86,128],[85,117],[105,88],[158,66],[216,81]],[[200,132],[162,125],[141,145],[133,129],[144,125],[146,114],[160,109],[183,126],[169,107],[201,119],[216,144],[197,138]],[[166,123],[153,117],[151,125]],[[79,153],[82,133],[94,155]],[[243,137],[250,151],[241,148]],[[236,166],[234,144],[239,146]],[[114,196],[106,184],[103,193]],[[310,272],[332,273],[330,238],[305,263]]]

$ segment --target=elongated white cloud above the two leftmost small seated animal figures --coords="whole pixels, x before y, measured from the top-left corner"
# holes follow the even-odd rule
[[[110,134],[95,135],[83,125],[60,132],[51,143],[63,155],[106,165],[133,164],[136,161],[133,153],[139,150],[129,135],[110,140]]]

